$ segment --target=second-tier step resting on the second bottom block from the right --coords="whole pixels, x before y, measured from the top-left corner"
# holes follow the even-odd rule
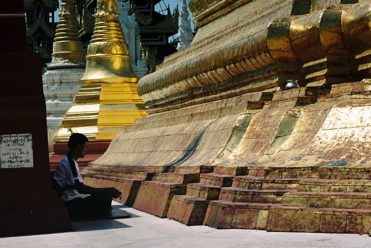
[[[226,202],[281,203],[282,196],[287,192],[290,191],[223,187],[220,189],[219,200]]]

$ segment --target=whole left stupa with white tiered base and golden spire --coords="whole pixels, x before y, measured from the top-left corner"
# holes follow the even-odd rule
[[[65,112],[79,91],[85,71],[85,53],[78,33],[73,0],[62,0],[53,43],[52,61],[43,75],[48,140],[60,127]]]

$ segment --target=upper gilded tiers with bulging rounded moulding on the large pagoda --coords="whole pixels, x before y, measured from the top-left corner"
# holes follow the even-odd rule
[[[302,86],[362,80],[349,57],[354,42],[348,45],[343,32],[349,20],[363,25],[360,17],[343,17],[354,8],[368,8],[367,1],[355,2],[192,0],[199,26],[193,43],[142,78],[138,93],[147,112],[155,113],[283,89],[288,79]]]

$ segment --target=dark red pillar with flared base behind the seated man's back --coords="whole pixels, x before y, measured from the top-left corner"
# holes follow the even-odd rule
[[[0,236],[71,231],[64,202],[50,186],[41,59],[26,52],[23,0],[1,3],[0,36],[0,136],[31,134],[33,160],[14,168],[24,164],[17,158],[22,149],[13,149],[9,168],[8,148],[0,144],[0,162],[7,159],[0,164]]]

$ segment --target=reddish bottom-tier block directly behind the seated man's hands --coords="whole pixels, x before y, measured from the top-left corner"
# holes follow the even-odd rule
[[[115,176],[105,176],[89,173],[81,173],[85,185],[92,187],[115,187],[122,192],[121,199],[115,201],[121,202],[127,206],[132,206],[143,180],[133,178],[122,178]]]

